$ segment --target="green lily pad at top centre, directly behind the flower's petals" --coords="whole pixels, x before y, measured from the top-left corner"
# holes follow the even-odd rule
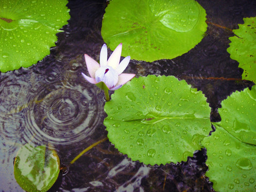
[[[112,0],[101,34],[111,50],[122,42],[122,55],[155,61],[173,59],[201,42],[205,10],[194,0]]]

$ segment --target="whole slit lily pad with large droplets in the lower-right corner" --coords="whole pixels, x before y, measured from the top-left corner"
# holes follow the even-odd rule
[[[216,191],[255,191],[256,85],[231,94],[221,102],[221,122],[203,140],[209,171]]]

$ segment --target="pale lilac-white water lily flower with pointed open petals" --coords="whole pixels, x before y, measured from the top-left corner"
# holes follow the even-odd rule
[[[130,56],[124,58],[120,63],[122,52],[122,43],[120,43],[114,52],[108,57],[107,45],[104,44],[100,51],[100,65],[89,55],[84,54],[86,66],[91,77],[82,73],[83,77],[90,83],[105,83],[109,90],[117,90],[125,83],[129,82],[135,74],[125,74],[124,69],[130,62]],[[105,90],[106,91],[106,90]],[[106,92],[105,92],[106,94]]]

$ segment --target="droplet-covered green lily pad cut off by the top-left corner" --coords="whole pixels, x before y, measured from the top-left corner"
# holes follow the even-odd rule
[[[55,46],[70,19],[67,0],[0,1],[0,71],[30,67]]]

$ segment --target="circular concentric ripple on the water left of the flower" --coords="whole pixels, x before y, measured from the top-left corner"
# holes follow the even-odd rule
[[[94,89],[44,87],[29,108],[28,135],[54,144],[70,144],[88,137],[100,123]]]

